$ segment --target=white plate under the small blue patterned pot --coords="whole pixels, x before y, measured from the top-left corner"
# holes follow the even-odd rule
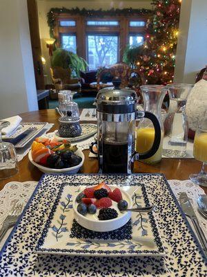
[[[52,139],[55,137],[58,141],[62,141],[63,139],[70,142],[81,141],[83,139],[88,139],[90,136],[93,136],[97,132],[97,125],[95,124],[81,124],[82,132],[81,136],[76,136],[75,138],[62,138],[58,134],[58,130],[54,133],[48,133],[45,135],[46,138]]]

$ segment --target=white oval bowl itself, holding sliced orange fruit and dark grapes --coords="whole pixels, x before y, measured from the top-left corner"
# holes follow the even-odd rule
[[[61,174],[61,173],[68,173],[68,174],[75,174],[79,171],[79,169],[81,168],[81,166],[83,166],[83,162],[84,162],[84,154],[81,150],[77,150],[75,152],[75,154],[77,154],[77,156],[82,158],[81,163],[79,163],[79,165],[77,166],[72,166],[72,168],[61,168],[61,169],[55,169],[55,168],[47,168],[46,166],[41,166],[39,163],[36,163],[35,161],[32,160],[32,151],[30,150],[28,157],[30,162],[36,166],[37,168],[39,168],[39,170],[41,172],[44,173],[56,173],[56,174]]]

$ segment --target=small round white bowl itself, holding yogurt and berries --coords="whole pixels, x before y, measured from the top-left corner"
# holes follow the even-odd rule
[[[112,190],[117,188],[117,186],[109,186],[109,187]],[[128,208],[132,208],[132,198],[130,197],[130,195],[128,195],[128,193],[126,193],[126,191],[122,190],[121,188],[119,189],[121,190],[122,198],[128,202]],[[75,199],[77,195],[75,195]],[[86,215],[81,215],[77,211],[78,203],[75,201],[75,203],[73,204],[75,220],[81,226],[92,231],[107,232],[107,231],[113,231],[115,229],[119,229],[121,226],[124,226],[130,220],[131,212],[119,211],[119,208],[117,207],[117,204],[118,204],[117,202],[113,201],[112,204],[115,206],[111,206],[110,208],[115,208],[117,210],[117,213],[119,214],[118,217],[112,220],[99,220],[97,217],[99,214],[99,209],[97,209],[97,213],[95,213],[95,215],[89,215],[88,213]]]

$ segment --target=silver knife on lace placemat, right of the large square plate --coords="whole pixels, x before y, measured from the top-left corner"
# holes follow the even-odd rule
[[[193,207],[190,203],[190,199],[188,198],[188,195],[186,193],[181,193],[179,195],[179,203],[181,204],[181,208],[183,209],[184,213],[188,217],[190,217],[190,220],[192,221],[193,226],[195,227],[195,230],[197,231],[197,235],[199,236],[199,240],[200,240],[201,245],[204,249],[204,252],[207,256],[207,240],[204,235],[204,232],[202,231],[201,227],[199,226],[197,216],[195,215],[195,211],[193,211]]]

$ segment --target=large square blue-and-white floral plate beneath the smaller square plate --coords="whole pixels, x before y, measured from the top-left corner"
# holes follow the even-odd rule
[[[144,183],[150,203],[157,207],[153,214],[166,256],[81,257],[35,251],[52,207],[56,201],[59,203],[61,184],[90,186],[103,179],[122,186]],[[78,230],[77,226],[74,228]],[[0,276],[3,277],[206,277],[206,268],[204,252],[164,175],[159,174],[43,175],[0,252]]]

